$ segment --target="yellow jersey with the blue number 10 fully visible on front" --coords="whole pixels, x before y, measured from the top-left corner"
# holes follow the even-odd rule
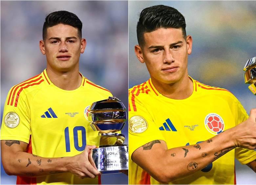
[[[112,96],[110,91],[83,76],[77,89],[60,89],[50,81],[45,69],[9,91],[1,140],[29,143],[28,152],[40,157],[80,154],[85,145],[99,146],[100,140],[87,120],[87,109],[93,102],[109,96]],[[98,184],[98,181],[97,177],[80,179],[71,173],[17,177],[17,184]]]

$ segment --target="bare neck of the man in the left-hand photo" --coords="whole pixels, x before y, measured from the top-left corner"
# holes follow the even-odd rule
[[[46,72],[51,82],[63,90],[75,90],[82,83],[82,77],[79,75],[78,68],[67,72],[60,72],[47,66]]]

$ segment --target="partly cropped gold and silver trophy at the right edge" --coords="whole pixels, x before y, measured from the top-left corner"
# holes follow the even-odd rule
[[[248,88],[256,95],[256,57],[247,60],[244,71],[245,83],[251,83]]]

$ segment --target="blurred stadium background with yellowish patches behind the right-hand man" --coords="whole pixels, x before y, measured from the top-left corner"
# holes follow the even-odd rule
[[[136,25],[142,9],[154,5],[178,9],[192,35],[188,71],[194,79],[226,88],[244,105],[256,107],[256,96],[244,84],[243,68],[256,56],[255,1],[129,1],[129,88],[149,79],[146,66],[134,53],[138,44]],[[237,184],[255,184],[256,175],[236,160]]]

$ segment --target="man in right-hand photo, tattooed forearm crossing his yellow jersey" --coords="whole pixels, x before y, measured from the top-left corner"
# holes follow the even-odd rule
[[[234,184],[235,157],[256,172],[256,109],[248,118],[228,90],[189,77],[185,27],[172,7],[140,13],[135,53],[151,78],[129,89],[130,184]]]

